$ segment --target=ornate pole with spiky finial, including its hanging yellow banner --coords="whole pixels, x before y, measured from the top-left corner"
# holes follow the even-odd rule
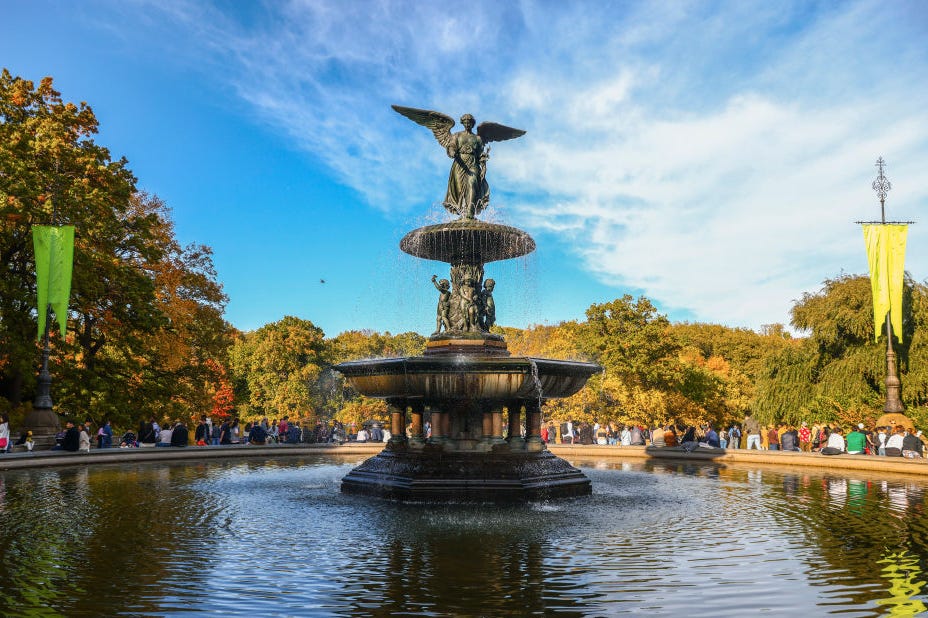
[[[893,349],[893,322],[896,335],[902,339],[902,286],[905,260],[905,242],[908,226],[914,221],[887,221],[886,195],[892,183],[883,173],[886,162],[883,157],[876,161],[877,177],[872,187],[880,198],[879,221],[857,221],[864,227],[867,243],[867,258],[870,265],[870,282],[873,290],[874,330],[879,338],[880,321],[885,311],[886,318],[886,403],[883,411],[902,412],[900,398],[902,383],[899,380],[896,351]]]

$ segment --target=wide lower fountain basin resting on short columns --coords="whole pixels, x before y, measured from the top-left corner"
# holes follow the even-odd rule
[[[578,361],[463,354],[351,361],[335,369],[362,395],[427,400],[569,397],[602,371]]]

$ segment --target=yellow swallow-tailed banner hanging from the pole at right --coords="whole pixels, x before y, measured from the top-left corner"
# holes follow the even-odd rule
[[[879,339],[886,313],[893,332],[902,341],[902,285],[905,275],[905,242],[909,226],[894,223],[864,225],[870,289],[873,291],[874,338]]]

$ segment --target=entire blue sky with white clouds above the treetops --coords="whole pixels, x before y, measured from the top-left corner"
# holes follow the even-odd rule
[[[924,2],[20,2],[0,64],[91,104],[98,141],[213,247],[249,330],[431,332],[406,231],[450,218],[448,159],[396,103],[525,129],[494,144],[484,218],[499,323],[644,294],[673,320],[758,328],[866,271],[859,219],[922,220]],[[928,276],[924,228],[907,269]],[[325,283],[320,280],[324,279]]]

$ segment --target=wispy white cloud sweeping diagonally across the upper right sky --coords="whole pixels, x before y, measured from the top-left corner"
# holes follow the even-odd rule
[[[389,103],[526,128],[491,160],[494,187],[531,196],[512,214],[569,239],[617,293],[702,320],[782,322],[803,291],[862,269],[852,222],[873,216],[877,156],[900,214],[928,196],[918,3],[293,1],[245,24],[199,6],[167,15],[373,207],[430,204],[446,173]]]

